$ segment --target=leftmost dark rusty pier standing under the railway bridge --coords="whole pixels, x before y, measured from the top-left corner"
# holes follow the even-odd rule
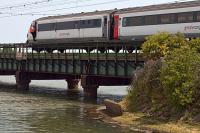
[[[28,77],[28,74],[25,72],[17,71],[15,74],[17,90],[27,91],[29,90],[29,83],[31,80]]]

